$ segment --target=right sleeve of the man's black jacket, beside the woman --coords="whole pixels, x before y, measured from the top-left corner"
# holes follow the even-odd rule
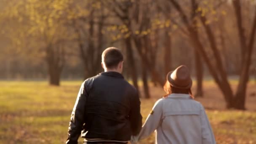
[[[130,123],[132,135],[139,134],[142,126],[142,116],[141,116],[141,101],[139,99],[138,92],[132,97],[131,100],[131,111],[130,111]]]

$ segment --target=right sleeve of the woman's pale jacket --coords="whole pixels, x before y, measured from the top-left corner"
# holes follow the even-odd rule
[[[201,106],[200,110],[200,120],[202,125],[202,141],[203,144],[216,144],[211,125],[209,123],[208,117],[205,113],[205,109]]]

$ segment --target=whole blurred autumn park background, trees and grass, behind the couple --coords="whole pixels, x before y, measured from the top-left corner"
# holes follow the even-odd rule
[[[24,120],[23,126],[17,122],[20,129],[9,127],[22,117],[54,117],[61,112],[65,118],[56,122],[63,121],[59,135],[63,142],[80,83],[103,71],[101,53],[114,46],[125,56],[123,75],[140,91],[144,117],[163,96],[166,74],[185,64],[191,70],[196,100],[209,110],[210,120],[219,115],[211,120],[217,141],[252,144],[256,142],[255,33],[256,0],[0,0],[0,120],[6,124],[0,129],[6,136],[0,140],[59,143],[47,138],[24,140],[33,138],[34,129],[24,127],[34,119]],[[48,100],[43,99],[46,95]],[[44,107],[34,112],[34,104],[35,109]],[[45,107],[51,109],[45,112]],[[54,113],[56,109],[61,111]],[[247,126],[240,128],[246,120]],[[50,121],[38,125],[45,128]],[[30,135],[12,139],[11,131]]]

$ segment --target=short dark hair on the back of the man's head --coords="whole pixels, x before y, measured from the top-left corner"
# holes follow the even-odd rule
[[[109,47],[103,51],[101,58],[105,66],[112,69],[116,68],[117,65],[123,61],[123,54],[118,48]]]

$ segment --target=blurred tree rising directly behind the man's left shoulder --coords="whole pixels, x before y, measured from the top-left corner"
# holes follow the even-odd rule
[[[84,78],[92,77],[101,72],[101,53],[104,47],[105,35],[103,29],[107,18],[105,9],[100,2],[75,3],[70,8],[71,27],[77,35],[80,58],[84,64]]]

